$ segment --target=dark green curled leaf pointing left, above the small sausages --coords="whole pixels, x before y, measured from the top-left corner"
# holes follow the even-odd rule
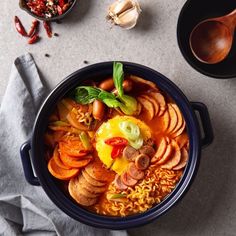
[[[100,89],[91,86],[80,86],[75,89],[74,98],[80,104],[92,103],[98,98]]]

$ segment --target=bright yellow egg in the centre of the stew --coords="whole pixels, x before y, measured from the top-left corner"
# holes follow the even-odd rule
[[[131,116],[116,116],[107,122],[104,122],[99,127],[95,138],[98,156],[108,169],[112,169],[118,174],[121,174],[126,169],[129,162],[123,156],[112,159],[112,147],[107,145],[105,140],[112,137],[126,138],[119,128],[119,124],[123,121],[131,121],[136,124],[139,127],[141,136],[144,140],[147,140],[152,136],[151,129],[143,121]]]

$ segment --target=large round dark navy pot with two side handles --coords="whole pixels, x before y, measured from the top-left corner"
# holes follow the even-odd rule
[[[213,141],[213,132],[207,108],[198,102],[189,102],[181,90],[165,76],[138,64],[123,62],[125,73],[133,74],[153,81],[157,86],[169,94],[177,103],[186,121],[190,138],[189,161],[183,176],[176,188],[160,204],[150,210],[133,216],[110,217],[91,213],[76,204],[59,187],[58,181],[48,172],[44,158],[43,136],[46,131],[48,117],[56,103],[70,90],[83,83],[87,79],[101,80],[112,75],[113,63],[104,62],[76,71],[62,81],[47,97],[41,106],[35,120],[32,138],[21,147],[21,159],[25,178],[32,185],[41,185],[48,197],[67,215],[85,224],[109,229],[127,229],[147,224],[161,216],[184,195],[189,188],[193,177],[197,172],[200,161],[201,149]],[[199,113],[204,130],[204,138],[201,139],[198,119],[195,112]],[[29,151],[31,150],[31,155]],[[36,176],[33,174],[33,168]]]

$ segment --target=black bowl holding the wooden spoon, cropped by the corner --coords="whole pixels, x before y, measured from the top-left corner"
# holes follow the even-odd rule
[[[236,37],[225,60],[209,65],[196,59],[190,49],[189,38],[193,28],[202,20],[223,16],[236,8],[231,0],[188,0],[183,6],[177,24],[177,39],[186,61],[200,73],[220,79],[236,77]]]

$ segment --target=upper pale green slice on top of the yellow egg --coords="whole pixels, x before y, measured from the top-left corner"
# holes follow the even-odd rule
[[[119,128],[128,139],[136,140],[140,135],[139,127],[131,121],[121,122]]]

